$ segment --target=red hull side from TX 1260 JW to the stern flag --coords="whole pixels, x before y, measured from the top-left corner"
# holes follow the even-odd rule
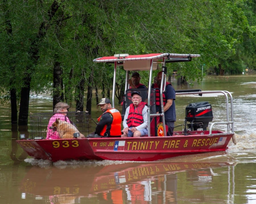
[[[185,154],[225,151],[232,134],[224,136],[171,136],[126,138],[92,142],[95,155],[102,159],[154,161]],[[121,147],[120,147],[121,144]],[[106,146],[112,147],[105,148]]]

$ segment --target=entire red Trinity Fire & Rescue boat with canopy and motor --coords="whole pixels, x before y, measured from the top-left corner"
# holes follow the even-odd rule
[[[117,54],[115,56],[101,57],[93,60],[94,62],[105,62],[114,64],[113,93],[115,92],[116,70],[118,67],[126,70],[125,82],[125,102],[123,107],[129,106],[130,101],[127,97],[131,89],[128,88],[129,71],[149,71],[149,85],[151,87],[152,71],[162,67],[161,90],[165,91],[166,84],[166,63],[186,62],[193,58],[200,57],[199,54],[144,54],[128,55]],[[76,138],[73,139],[54,139],[46,140],[46,127],[49,115],[32,114],[30,115],[30,138],[26,136],[17,140],[18,144],[28,155],[36,159],[49,159],[51,161],[69,159],[96,159],[96,160],[128,160],[128,161],[155,161],[187,154],[203,152],[226,151],[231,138],[236,144],[233,120],[233,99],[228,91],[201,91],[201,90],[182,90],[176,91],[178,95],[188,94],[222,94],[226,99],[226,119],[221,122],[212,122],[212,107],[206,101],[191,103],[186,107],[186,117],[184,129],[175,131],[173,136],[166,136],[166,125],[164,114],[156,113],[155,110],[155,90],[154,89],[132,89],[145,92],[148,105],[148,135],[140,138]],[[160,96],[162,91],[160,90]],[[112,107],[115,107],[115,96],[112,96]],[[163,112],[163,99],[160,97],[160,104]],[[79,123],[80,133],[88,134],[88,114],[83,112],[68,113],[69,118]],[[73,114],[73,115],[72,115]],[[44,124],[43,121],[46,121]],[[209,122],[212,122],[208,127]],[[213,130],[218,125],[226,125],[226,131]],[[35,128],[36,127],[36,128]],[[33,130],[34,128],[34,130]],[[83,130],[82,130],[83,129]]]

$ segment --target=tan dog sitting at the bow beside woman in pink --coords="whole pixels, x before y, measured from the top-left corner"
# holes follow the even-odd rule
[[[84,138],[84,135],[81,134],[74,125],[68,123],[67,121],[62,121],[59,118],[52,123],[50,129],[55,129],[61,139],[72,139],[74,138],[74,133],[79,133],[78,138]]]

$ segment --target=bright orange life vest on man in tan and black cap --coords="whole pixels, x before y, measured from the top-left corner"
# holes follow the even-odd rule
[[[108,109],[106,110],[106,112],[104,113],[110,113],[113,116],[113,121],[111,124],[111,128],[110,128],[110,135],[108,136],[120,136],[121,135],[121,122],[122,122],[122,117],[121,114],[118,110],[116,110],[115,108],[112,109]],[[102,113],[102,115],[104,114]],[[101,116],[98,117],[98,121],[100,121]],[[105,136],[107,130],[107,125],[104,125],[102,131],[100,132],[101,136]]]

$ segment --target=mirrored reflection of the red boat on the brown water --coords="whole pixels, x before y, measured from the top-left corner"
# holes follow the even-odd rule
[[[49,199],[51,203],[83,203],[94,197],[106,203],[178,203],[178,193],[193,199],[193,191],[197,190],[201,190],[197,197],[210,196],[208,199],[222,202],[222,199],[208,195],[205,190],[220,186],[216,178],[223,179],[224,173],[229,172],[228,168],[235,165],[207,161],[68,161],[49,166],[35,159],[27,159],[27,162],[38,162],[41,167],[31,167],[21,181],[23,196],[34,195],[35,199]],[[193,184],[193,188],[183,189],[183,182]],[[228,190],[222,192],[223,195],[227,193]]]

